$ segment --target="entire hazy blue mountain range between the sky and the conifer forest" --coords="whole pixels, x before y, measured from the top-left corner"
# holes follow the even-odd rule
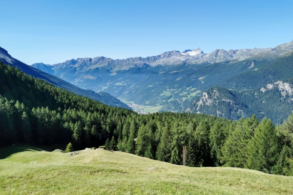
[[[108,105],[129,108],[125,103],[132,103],[148,107],[146,112],[155,108],[229,119],[255,114],[281,123],[293,111],[292,53],[293,41],[266,49],[218,49],[204,54],[198,48],[147,58],[97,57],[32,66],[0,48],[0,60]]]

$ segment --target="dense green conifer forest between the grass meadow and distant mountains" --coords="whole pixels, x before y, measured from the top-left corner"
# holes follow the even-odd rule
[[[232,121],[188,113],[139,115],[75,95],[3,63],[0,95],[0,146],[70,142],[68,148],[79,150],[105,144],[110,150],[172,164],[293,176],[293,115],[279,126],[255,116]]]

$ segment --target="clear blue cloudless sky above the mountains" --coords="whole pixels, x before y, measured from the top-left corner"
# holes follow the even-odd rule
[[[0,46],[27,64],[293,40],[293,0],[0,0]]]

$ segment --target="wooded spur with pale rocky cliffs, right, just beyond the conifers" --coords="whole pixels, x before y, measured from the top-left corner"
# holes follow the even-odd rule
[[[228,90],[211,87],[189,106],[191,112],[238,120],[255,115],[281,124],[293,112],[293,80],[276,81],[262,88]]]

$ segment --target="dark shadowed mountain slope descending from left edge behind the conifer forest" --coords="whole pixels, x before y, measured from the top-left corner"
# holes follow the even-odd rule
[[[36,69],[36,68],[33,68],[31,66],[28,66],[28,65],[22,63],[21,61],[12,58],[8,54],[8,52],[1,47],[0,47],[0,61],[2,61],[3,63],[9,64],[13,67],[19,68],[22,72],[24,72],[28,75],[31,75],[35,78],[42,78],[42,79],[54,84],[55,86],[61,87],[63,89],[71,91],[75,94],[95,99],[97,101],[100,101],[100,102],[105,103],[110,106],[129,108],[125,103],[121,102],[119,99],[117,99],[117,98],[115,98],[105,92],[95,93],[94,91],[91,91],[91,90],[81,89],[81,88],[79,88],[71,83],[68,83],[58,77],[55,77],[51,74],[48,74],[46,72],[43,72],[43,71]]]

